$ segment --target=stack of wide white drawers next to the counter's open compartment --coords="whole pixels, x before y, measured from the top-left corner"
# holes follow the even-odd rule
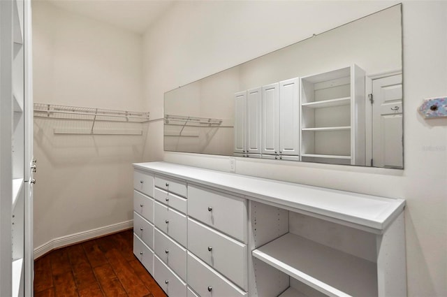
[[[189,294],[247,296],[247,200],[188,185]]]

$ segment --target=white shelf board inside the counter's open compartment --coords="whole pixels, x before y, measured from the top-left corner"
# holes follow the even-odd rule
[[[328,296],[378,294],[376,263],[292,233],[254,249],[252,255]]]

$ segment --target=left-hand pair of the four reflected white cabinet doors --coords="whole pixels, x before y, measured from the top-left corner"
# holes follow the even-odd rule
[[[235,94],[235,155],[261,157],[261,88]]]

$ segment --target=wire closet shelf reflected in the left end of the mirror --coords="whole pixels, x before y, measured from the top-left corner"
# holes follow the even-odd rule
[[[223,119],[213,119],[210,117],[190,117],[188,115],[165,115],[165,126],[177,126],[178,129],[165,129],[164,136],[199,137],[197,129],[194,131],[185,130],[186,127],[223,127]],[[229,126],[224,126],[229,127]]]

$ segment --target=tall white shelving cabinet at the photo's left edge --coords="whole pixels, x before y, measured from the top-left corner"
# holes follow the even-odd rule
[[[0,1],[0,20],[0,296],[31,296],[31,1]]]

